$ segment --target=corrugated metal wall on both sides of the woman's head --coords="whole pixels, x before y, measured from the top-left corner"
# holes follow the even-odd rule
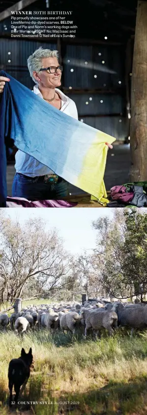
[[[57,49],[57,44],[48,42],[13,38],[0,39],[0,65],[4,65],[7,73],[31,89],[34,83],[29,75],[27,58],[40,45],[43,48]],[[102,64],[102,61],[105,63]],[[82,118],[86,124],[98,128],[118,140],[124,139],[127,135],[127,120],[124,116],[126,102],[124,94],[122,94],[124,47],[66,45],[63,64],[62,86],[66,88],[71,86],[72,88],[91,90],[114,89],[114,93],[111,94],[92,92],[74,94],[69,90],[68,96],[77,105],[79,119]],[[71,69],[73,72],[70,71]],[[119,81],[121,84],[118,83]],[[117,89],[116,93],[115,89]],[[113,116],[104,116],[106,114]]]

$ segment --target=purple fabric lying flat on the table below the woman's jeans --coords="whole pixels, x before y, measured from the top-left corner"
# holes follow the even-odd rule
[[[65,200],[36,200],[31,202],[23,197],[10,197],[6,198],[6,207],[74,207],[77,203],[66,202]]]

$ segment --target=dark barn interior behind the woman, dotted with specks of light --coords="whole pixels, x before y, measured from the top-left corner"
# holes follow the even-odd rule
[[[79,121],[116,138],[108,151],[105,185],[128,182],[130,168],[131,82],[137,0],[0,1],[0,68],[32,89],[28,56],[40,45],[58,49],[63,65],[61,90],[75,101]],[[75,38],[12,38],[11,10],[72,10]],[[70,20],[70,18],[69,18]],[[15,174],[7,166],[7,187]],[[71,186],[72,194],[82,193]]]

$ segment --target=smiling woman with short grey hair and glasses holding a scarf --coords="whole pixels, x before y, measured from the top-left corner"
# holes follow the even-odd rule
[[[62,66],[59,65],[58,58],[57,50],[42,49],[42,47],[29,56],[28,69],[35,82],[33,93],[59,111],[78,119],[76,104],[58,89],[61,85],[62,74]],[[0,92],[3,92],[5,81],[9,79],[0,76]],[[37,123],[35,114],[34,122]],[[109,147],[112,148],[111,145]],[[16,174],[13,180],[12,196],[24,197],[31,201],[61,199],[68,196],[69,184],[49,167],[17,149],[15,160]]]

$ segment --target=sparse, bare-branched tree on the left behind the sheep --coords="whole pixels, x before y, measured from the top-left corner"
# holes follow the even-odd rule
[[[47,231],[41,219],[30,219],[24,226],[8,220],[1,226],[1,300],[13,302],[25,292],[36,297],[66,287],[72,258],[62,243],[57,229]]]

